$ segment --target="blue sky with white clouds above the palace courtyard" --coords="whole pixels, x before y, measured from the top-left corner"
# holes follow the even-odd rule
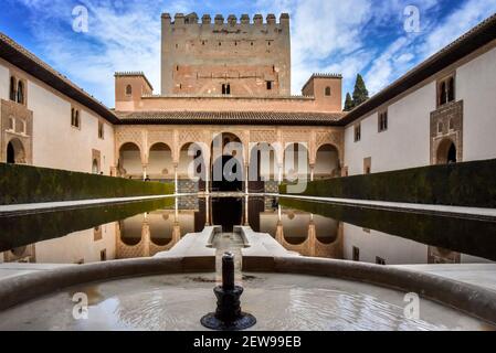
[[[73,31],[76,6],[87,33]],[[419,32],[404,30],[408,6]],[[495,13],[496,0],[2,0],[0,31],[113,107],[117,71],[145,72],[159,93],[160,13],[193,11],[288,12],[293,94],[314,72],[342,74],[345,94],[361,73],[374,94]]]

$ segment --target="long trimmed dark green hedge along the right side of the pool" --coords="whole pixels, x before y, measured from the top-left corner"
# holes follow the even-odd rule
[[[304,195],[494,208],[496,160],[315,181]]]

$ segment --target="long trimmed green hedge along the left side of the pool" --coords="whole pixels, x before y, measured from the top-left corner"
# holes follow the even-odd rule
[[[172,193],[172,184],[0,163],[2,205]]]

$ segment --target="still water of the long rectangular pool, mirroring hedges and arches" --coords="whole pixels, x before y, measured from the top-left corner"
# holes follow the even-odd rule
[[[0,217],[0,263],[151,257],[207,225],[250,225],[303,256],[380,265],[496,259],[496,223],[276,197],[178,197]]]

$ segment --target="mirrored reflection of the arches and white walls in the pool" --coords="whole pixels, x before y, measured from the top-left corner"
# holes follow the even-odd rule
[[[123,218],[117,217],[113,222],[107,217],[107,223],[96,227],[91,224],[92,228],[87,228],[89,223],[84,222],[81,231],[68,222],[67,235],[64,235],[64,226],[60,225],[54,238],[39,236],[36,228],[43,227],[42,216],[36,218],[38,223],[31,231],[15,226],[14,220],[0,220],[9,229],[9,234],[0,234],[0,245],[4,243],[0,247],[0,263],[84,264],[151,257],[170,250],[184,235],[201,232],[208,225],[220,225],[224,232],[232,232],[235,225],[250,225],[255,232],[270,234],[287,250],[303,256],[381,265],[488,261],[444,249],[435,243],[420,243],[344,223],[331,216],[284,207],[275,197],[190,196],[151,210],[139,212],[136,208],[134,215],[131,212],[123,213]],[[83,211],[74,212],[84,214]],[[99,212],[108,214],[113,211],[107,206]],[[46,222],[53,221],[51,215],[45,217]],[[15,232],[21,229],[21,240],[12,240]],[[30,234],[33,235],[32,242],[29,242]],[[9,242],[4,242],[6,238]]]

